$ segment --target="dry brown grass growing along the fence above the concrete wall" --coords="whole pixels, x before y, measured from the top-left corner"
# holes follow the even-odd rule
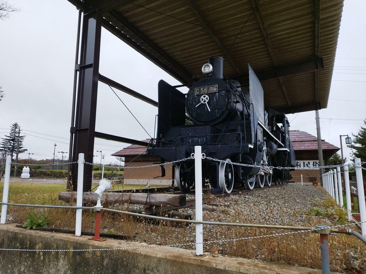
[[[13,185],[14,186],[14,185]],[[16,203],[41,203],[52,205],[72,205],[73,203],[66,203],[58,200],[58,192],[63,191],[58,187],[45,188],[41,190],[41,186],[36,185],[32,189],[21,189],[17,186],[11,189],[9,202]],[[1,190],[1,189],[0,189]],[[325,202],[320,203],[319,208],[334,209],[336,205],[332,198],[327,198]],[[128,205],[115,206],[115,209],[126,210]],[[44,212],[51,220],[49,227],[74,229],[75,228],[75,210],[71,209],[34,209],[21,208],[10,206],[9,215],[12,217],[12,222],[24,224],[26,221],[26,214],[32,210],[35,212]],[[266,207],[265,213],[255,211],[255,208],[249,208],[251,212],[256,214],[254,218],[262,220],[262,223],[268,223],[268,216],[274,214],[273,209]],[[336,214],[345,214],[344,211],[333,210]],[[343,213],[342,213],[343,212]],[[215,212],[204,212],[203,220],[217,220],[223,221],[221,214],[234,222],[250,222],[243,216],[242,212],[237,209],[232,211],[228,207],[220,206]],[[294,211],[294,220],[296,220],[296,212]],[[293,225],[286,223],[285,218],[280,212],[279,224]],[[325,218],[325,217],[322,217]],[[329,218],[328,218],[329,219]],[[334,220],[336,220],[335,218]],[[95,213],[92,210],[83,210],[82,230],[94,231]],[[319,224],[319,217],[310,215],[307,216],[306,226],[313,226]],[[329,219],[328,225],[337,224]],[[209,228],[203,226],[203,235],[205,241],[221,240],[221,239],[236,239],[242,237],[253,237],[260,235],[269,235],[275,233],[282,233],[285,231],[275,231],[272,229],[259,228],[240,228],[240,227],[214,227]],[[209,231],[211,229],[211,231]],[[354,229],[354,227],[352,227]],[[131,240],[144,241],[150,244],[178,244],[194,242],[194,225],[180,225],[175,226],[171,222],[149,220],[141,220],[131,216],[125,216],[118,213],[103,212],[101,221],[101,231],[130,236]],[[210,235],[210,236],[208,236]],[[343,234],[330,235],[330,263],[338,271],[347,270],[349,273],[357,272],[359,269],[352,269],[350,250],[359,256],[365,256],[366,248],[358,239],[352,236]],[[217,248],[214,248],[217,247]],[[194,246],[186,246],[184,248],[194,249]],[[320,245],[319,235],[314,233],[297,233],[291,235],[281,235],[272,237],[263,237],[259,239],[231,241],[227,243],[206,244],[204,245],[206,251],[219,250],[222,255],[239,256],[243,258],[261,259],[269,262],[290,263],[299,266],[309,266],[320,268]]]

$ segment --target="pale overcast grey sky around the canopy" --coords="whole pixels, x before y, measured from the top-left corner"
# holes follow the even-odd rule
[[[52,158],[55,143],[56,157],[61,157],[58,151],[68,151],[78,11],[66,0],[8,2],[21,11],[0,20],[0,86],[5,91],[0,102],[0,137],[18,122],[27,135],[24,145],[35,159]],[[365,10],[365,1],[344,3],[329,104],[320,110],[322,138],[336,146],[340,146],[340,134],[357,133],[366,118]],[[179,84],[103,28],[100,73],[154,100],[160,79]],[[152,135],[157,108],[123,92],[117,94]],[[290,114],[288,119],[293,119],[292,130],[316,136],[314,111]],[[138,140],[148,137],[109,87],[100,82],[96,130]],[[102,149],[106,161],[116,163],[110,154],[124,146],[96,139],[95,161],[100,161],[96,151]],[[350,153],[345,144],[344,152],[346,156]]]

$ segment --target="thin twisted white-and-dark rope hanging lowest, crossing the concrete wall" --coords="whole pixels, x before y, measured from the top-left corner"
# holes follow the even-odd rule
[[[366,222],[366,221],[363,221]],[[354,224],[361,224],[363,222],[353,222],[350,224],[344,224],[344,225],[335,225],[330,228],[339,228],[339,227],[345,227],[349,225]],[[297,234],[297,233],[303,233],[303,232],[316,232],[318,230],[322,230],[324,228],[314,228],[314,229],[308,229],[308,230],[299,230],[299,231],[291,231],[291,232],[284,232],[284,233],[275,233],[270,235],[261,235],[261,236],[251,236],[251,237],[242,237],[242,238],[236,238],[236,239],[223,239],[223,240],[214,240],[214,241],[203,241],[200,243],[183,243],[183,244],[166,244],[162,246],[143,246],[143,247],[117,247],[117,248],[91,248],[91,249],[21,249],[21,248],[0,248],[0,250],[4,251],[41,251],[41,252],[68,252],[68,251],[111,251],[111,250],[132,250],[132,249],[142,249],[142,248],[153,248],[153,247],[179,247],[179,246],[194,246],[196,244],[213,244],[213,243],[226,243],[230,241],[240,241],[240,240],[251,240],[251,239],[259,239],[259,238],[265,238],[265,237],[272,237],[272,236],[283,236],[283,235],[291,235],[291,234]]]

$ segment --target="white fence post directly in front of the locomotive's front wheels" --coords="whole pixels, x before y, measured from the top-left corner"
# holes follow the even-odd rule
[[[196,221],[202,221],[202,151],[201,146],[194,147],[194,180]],[[203,225],[196,224],[196,255],[203,255]]]

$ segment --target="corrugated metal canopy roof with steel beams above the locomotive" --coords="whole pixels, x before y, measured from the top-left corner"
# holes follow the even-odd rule
[[[223,56],[224,76],[244,85],[250,64],[266,107],[327,107],[343,0],[68,1],[98,9],[103,27],[183,84]]]

